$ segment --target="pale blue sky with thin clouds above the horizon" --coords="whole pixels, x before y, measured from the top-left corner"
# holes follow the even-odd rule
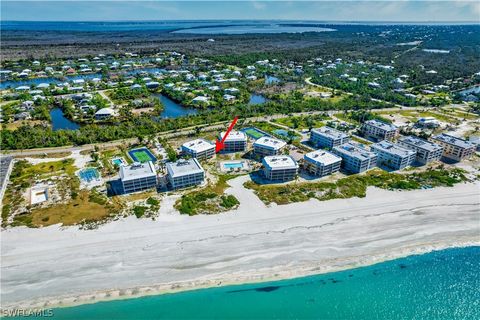
[[[1,0],[1,20],[317,20],[478,22],[480,1]]]

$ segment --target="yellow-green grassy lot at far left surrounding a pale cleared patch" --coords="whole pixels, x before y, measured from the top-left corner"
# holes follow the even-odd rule
[[[16,162],[3,200],[3,226],[8,225],[7,219],[12,216],[11,226],[42,227],[57,223],[96,223],[119,213],[123,206],[120,201],[109,199],[96,189],[79,189],[80,181],[75,175],[77,168],[73,163],[73,159],[36,165],[25,160]],[[52,181],[62,203],[48,207],[31,207],[26,203],[23,193],[40,181]]]

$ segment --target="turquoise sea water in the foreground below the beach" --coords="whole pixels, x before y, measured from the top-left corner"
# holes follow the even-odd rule
[[[54,319],[480,319],[480,247],[341,272],[55,309]]]

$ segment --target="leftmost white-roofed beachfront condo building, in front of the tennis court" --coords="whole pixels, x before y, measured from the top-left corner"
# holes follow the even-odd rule
[[[157,172],[151,161],[136,162],[129,166],[120,166],[120,181],[124,193],[142,191],[156,187]]]

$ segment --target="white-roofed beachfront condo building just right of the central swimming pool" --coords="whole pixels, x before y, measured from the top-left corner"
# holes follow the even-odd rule
[[[263,174],[272,181],[294,180],[298,174],[298,164],[290,156],[267,156],[262,160]]]

